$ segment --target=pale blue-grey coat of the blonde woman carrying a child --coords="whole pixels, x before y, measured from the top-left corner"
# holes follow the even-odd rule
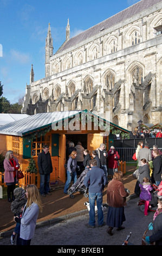
[[[21,218],[20,238],[30,240],[34,236],[38,214],[39,207],[36,203],[32,203],[27,209],[24,207]]]

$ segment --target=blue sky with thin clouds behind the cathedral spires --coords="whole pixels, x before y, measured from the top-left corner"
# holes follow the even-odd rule
[[[11,103],[25,95],[33,64],[35,81],[44,77],[45,40],[51,26],[54,53],[70,38],[139,0],[0,0],[0,81]],[[2,48],[2,52],[1,52]]]

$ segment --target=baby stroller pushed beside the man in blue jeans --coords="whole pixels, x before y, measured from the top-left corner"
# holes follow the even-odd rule
[[[81,173],[80,177],[77,179],[77,181],[72,185],[72,187],[69,188],[68,194],[70,198],[74,198],[74,192],[79,191],[81,194],[84,194],[85,197],[88,197],[87,194],[87,187],[83,184],[83,181],[85,179],[85,176],[88,172],[88,168],[83,170]]]

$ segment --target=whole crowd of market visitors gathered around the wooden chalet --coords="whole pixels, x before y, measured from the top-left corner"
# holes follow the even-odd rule
[[[143,147],[144,146],[144,147]],[[140,199],[145,200],[144,215],[147,216],[148,207],[151,200],[152,183],[157,188],[157,197],[159,200],[158,210],[156,212],[156,220],[161,220],[162,213],[162,161],[161,151],[157,145],[153,150],[149,149],[149,144],[140,141],[136,150],[137,168],[139,176],[135,185],[135,193]],[[112,146],[108,151],[106,145],[101,143],[99,148],[93,150],[92,153],[88,149],[82,147],[82,143],[78,142],[75,146],[73,142],[68,143],[67,147],[67,181],[64,186],[64,193],[68,193],[70,182],[77,181],[84,169],[88,169],[83,184],[88,188],[89,194],[89,223],[88,228],[95,228],[95,203],[98,207],[98,227],[107,225],[107,233],[113,235],[113,228],[117,230],[124,229],[122,223],[126,220],[124,206],[129,191],[124,187],[122,182],[122,172],[118,170],[120,156],[118,151]],[[40,191],[35,185],[28,185],[26,192],[23,188],[15,188],[17,184],[17,170],[20,164],[13,151],[9,150],[5,156],[4,169],[5,180],[7,184],[8,201],[12,202],[11,211],[14,214],[16,227],[11,235],[11,244],[15,242],[17,234],[17,245],[30,245],[34,236],[34,230],[39,211],[42,211],[41,196],[50,195],[50,173],[53,171],[51,164],[51,156],[48,145],[44,145],[42,153],[38,155],[38,169],[41,176]],[[152,161],[153,168],[151,172],[149,162]],[[77,172],[76,172],[77,169]],[[108,180],[109,176],[109,180]],[[107,185],[107,203],[108,212],[106,222],[103,221],[102,198],[103,190]],[[25,195],[27,198],[25,198]],[[159,216],[158,216],[159,215]],[[158,216],[158,218],[157,218]],[[156,221],[153,224],[153,235],[147,237],[147,242],[155,241],[162,244],[161,224]],[[158,233],[158,235],[157,235]],[[157,239],[155,238],[157,237]]]

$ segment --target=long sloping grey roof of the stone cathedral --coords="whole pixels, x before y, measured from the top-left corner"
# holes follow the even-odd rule
[[[99,34],[102,30],[110,28],[124,20],[127,20],[127,19],[131,18],[132,16],[134,16],[138,13],[141,13],[141,11],[144,11],[150,7],[153,7],[153,5],[160,3],[160,2],[161,2],[161,0],[141,0],[138,3],[131,5],[131,7],[128,7],[127,9],[120,11],[119,13],[109,17],[105,21],[102,21],[102,22],[98,23],[97,25],[87,29],[86,31],[65,41],[56,53],[60,53],[64,50],[67,50],[67,48],[73,47],[74,45],[79,44],[79,42],[84,41],[96,34]]]

